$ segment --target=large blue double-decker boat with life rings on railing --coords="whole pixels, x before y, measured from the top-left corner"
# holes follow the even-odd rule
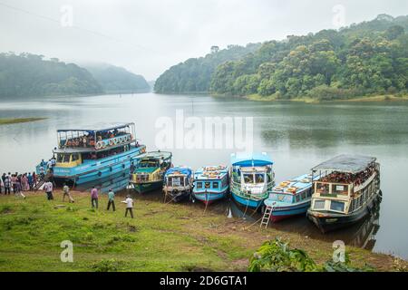
[[[49,172],[58,183],[79,185],[129,171],[136,157],[146,151],[136,140],[134,127],[134,123],[126,123],[100,129],[58,130],[54,166],[50,168],[42,161],[36,172]]]

